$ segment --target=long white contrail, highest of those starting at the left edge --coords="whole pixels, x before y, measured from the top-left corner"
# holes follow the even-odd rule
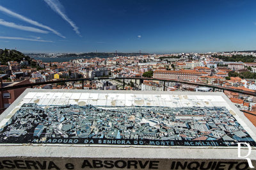
[[[25,22],[28,22],[29,24],[32,24],[34,26],[38,26],[38,27],[42,27],[44,29],[47,29],[47,30],[51,31],[54,34],[56,34],[58,36],[61,36],[62,38],[65,38],[65,36],[61,35],[61,33],[59,33],[58,31],[56,31],[54,29],[52,29],[51,27],[45,26],[44,24],[40,24],[39,22],[37,22],[35,20],[28,19],[27,17],[24,17],[23,15],[20,15],[19,13],[12,12],[11,10],[8,10],[7,8],[4,8],[1,5],[0,5],[0,11],[3,12],[3,13],[6,13],[8,15],[11,15],[12,17],[15,17],[17,19],[20,19],[20,20],[23,20]]]

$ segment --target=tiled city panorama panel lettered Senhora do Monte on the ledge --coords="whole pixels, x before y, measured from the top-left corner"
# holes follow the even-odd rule
[[[235,117],[221,96],[29,92],[0,143],[255,146]]]

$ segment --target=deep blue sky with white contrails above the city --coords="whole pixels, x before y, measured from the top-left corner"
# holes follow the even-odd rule
[[[1,0],[0,49],[256,50],[256,1]]]

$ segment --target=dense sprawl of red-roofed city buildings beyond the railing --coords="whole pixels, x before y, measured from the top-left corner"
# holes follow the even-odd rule
[[[3,50],[4,52],[4,50]],[[9,50],[12,55],[15,50]],[[49,57],[57,58],[66,54],[45,54],[42,60],[33,59],[36,54],[20,57],[20,62],[9,61],[0,65],[1,73],[6,74],[4,83],[25,82],[40,83],[63,79],[92,78],[93,81],[74,81],[55,84],[44,84],[35,86],[38,89],[126,89],[142,91],[218,91],[218,89],[199,87],[189,84],[175,82],[164,82],[163,80],[189,81],[200,84],[222,86],[225,88],[239,89],[248,92],[256,90],[256,62],[247,63],[243,61],[226,61],[228,58],[255,58],[253,52],[209,52],[180,53],[180,54],[136,54],[135,56],[118,56],[96,58],[69,58],[64,62],[44,62]],[[79,54],[77,54],[79,55]],[[223,57],[224,56],[224,57]],[[242,57],[241,57],[242,56]],[[41,56],[42,57],[42,56]],[[227,59],[225,59],[227,58]],[[252,61],[246,59],[246,61]],[[97,77],[125,78],[125,77],[148,77],[159,79],[159,81],[135,81],[125,79],[97,80]],[[17,93],[20,94],[20,93]],[[256,97],[231,93],[225,91],[228,98],[237,107],[253,111],[256,107]],[[17,97],[19,95],[12,95]],[[12,101],[4,102],[3,108],[12,104]]]

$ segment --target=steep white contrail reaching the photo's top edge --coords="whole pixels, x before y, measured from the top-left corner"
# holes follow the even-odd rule
[[[60,1],[58,0],[44,0],[44,1],[52,8],[54,12],[58,13],[58,15],[60,15],[63,20],[66,20],[68,24],[70,24],[70,26],[73,27],[73,30],[76,32],[77,35],[81,36],[78,30],[79,28],[71,19],[68,18],[68,16],[65,13],[64,7],[60,3]]]

